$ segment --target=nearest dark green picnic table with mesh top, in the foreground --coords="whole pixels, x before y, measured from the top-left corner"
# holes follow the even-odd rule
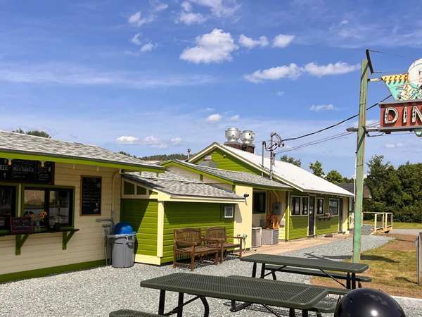
[[[239,311],[250,304],[260,304],[278,316],[268,306],[278,306],[290,309],[289,316],[295,316],[295,309],[302,310],[302,316],[308,316],[308,311],[330,294],[328,288],[314,285],[298,284],[293,282],[264,280],[245,277],[224,277],[191,273],[172,273],[170,275],[144,280],[141,287],[160,290],[158,314],[170,316],[177,313],[181,317],[183,307],[200,299],[204,306],[204,317],[209,316],[210,307],[207,297],[228,299],[231,301],[231,310]],[[177,307],[165,313],[165,292],[178,292]],[[184,302],[184,294],[195,297]],[[236,301],[245,302],[238,309]]]

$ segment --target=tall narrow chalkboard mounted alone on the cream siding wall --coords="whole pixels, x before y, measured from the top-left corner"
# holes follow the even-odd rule
[[[81,214],[101,215],[101,178],[82,176]]]

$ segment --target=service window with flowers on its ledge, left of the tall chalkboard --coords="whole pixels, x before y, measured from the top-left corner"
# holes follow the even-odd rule
[[[73,218],[73,190],[58,188],[25,188],[23,216],[39,220],[46,227],[51,220],[71,226]]]

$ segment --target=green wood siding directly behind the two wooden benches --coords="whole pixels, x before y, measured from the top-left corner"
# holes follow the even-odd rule
[[[234,219],[222,217],[222,204],[165,202],[164,243],[161,263],[173,261],[174,229],[224,226],[227,235],[234,235]]]

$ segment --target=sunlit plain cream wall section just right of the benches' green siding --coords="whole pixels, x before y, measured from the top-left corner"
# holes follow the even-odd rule
[[[236,204],[234,214],[234,236],[248,235],[245,248],[249,249],[252,237],[252,187],[236,185],[235,192],[238,195],[249,194],[245,202]]]

